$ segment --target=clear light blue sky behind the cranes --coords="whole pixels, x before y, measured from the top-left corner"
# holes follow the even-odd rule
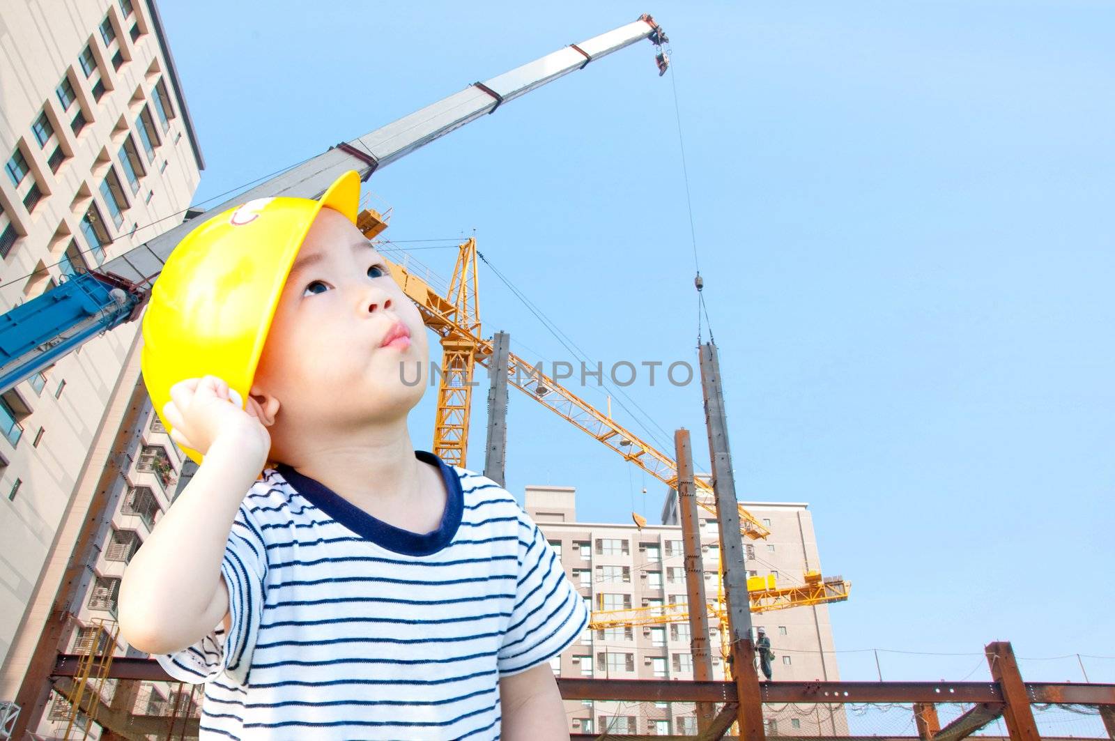
[[[652,12],[671,39],[697,252],[743,498],[807,501],[846,679],[1032,680],[1115,656],[1115,8],[1107,2],[161,6],[197,200]],[[673,88],[649,42],[384,169],[385,234],[482,252],[578,346],[696,365]],[[454,250],[415,250],[443,276]],[[570,354],[489,270],[484,331]],[[707,336],[707,333],[706,333]],[[707,465],[696,383],[627,388]],[[574,385],[576,389],[576,386]],[[603,408],[605,392],[581,388]],[[428,446],[434,394],[413,417]],[[623,400],[633,411],[631,402]],[[472,468],[482,468],[483,388]],[[660,429],[659,429],[660,427]],[[522,395],[508,488],[657,519],[663,487]],[[663,432],[665,431],[665,432]],[[668,449],[667,449],[668,450]],[[641,494],[646,487],[648,494]],[[948,656],[942,654],[962,654]],[[1039,657],[1067,656],[1036,661]],[[1084,658],[1093,681],[1115,660]]]

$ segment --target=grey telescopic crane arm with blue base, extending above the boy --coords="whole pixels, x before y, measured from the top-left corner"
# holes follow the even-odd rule
[[[504,103],[643,39],[658,48],[656,62],[661,74],[668,64],[661,47],[668,39],[655,19],[644,15],[330,147],[200,215],[207,218],[259,198],[318,198],[348,170],[356,170],[361,180],[367,180],[377,169],[494,113]],[[0,393],[58,362],[89,338],[136,319],[163,263],[192,228],[190,222],[181,223],[113,258],[100,269],[68,280],[0,316]]]

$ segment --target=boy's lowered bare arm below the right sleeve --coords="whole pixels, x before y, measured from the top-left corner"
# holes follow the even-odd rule
[[[550,664],[500,680],[502,738],[507,741],[569,741],[569,721]]]

